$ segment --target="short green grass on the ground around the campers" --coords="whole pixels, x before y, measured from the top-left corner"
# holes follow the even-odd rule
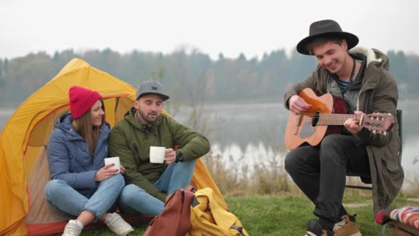
[[[381,226],[374,223],[372,199],[369,191],[364,195],[347,194],[344,206],[351,214],[357,214],[362,235],[380,235]],[[400,195],[394,207],[418,205],[417,199]],[[249,235],[304,235],[307,222],[314,219],[314,205],[303,195],[253,195],[225,197],[229,209],[241,220]],[[143,235],[147,225],[136,227],[130,235]],[[386,235],[391,235],[387,228]],[[84,230],[81,235],[114,235],[109,230]]]

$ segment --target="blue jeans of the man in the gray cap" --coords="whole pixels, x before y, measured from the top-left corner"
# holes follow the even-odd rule
[[[166,191],[167,195],[180,188],[186,188],[194,175],[195,162],[196,160],[170,164],[154,183],[154,186],[159,190]],[[119,208],[130,215],[159,215],[165,208],[163,201],[148,194],[135,184],[129,184],[123,188],[118,203]]]

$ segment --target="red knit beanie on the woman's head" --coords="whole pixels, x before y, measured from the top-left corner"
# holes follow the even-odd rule
[[[72,86],[68,90],[68,97],[70,98],[70,112],[74,119],[81,117],[97,100],[102,98],[99,92],[79,86]]]

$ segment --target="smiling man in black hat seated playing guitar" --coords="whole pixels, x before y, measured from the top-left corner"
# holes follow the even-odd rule
[[[311,23],[309,36],[297,50],[314,55],[318,67],[285,92],[285,107],[294,115],[307,110],[311,105],[298,94],[311,88],[319,95],[331,93],[345,100],[349,114],[385,112],[396,117],[398,91],[387,56],[375,49],[354,48],[357,44],[358,37],[343,32],[336,21]],[[342,205],[347,173],[372,182],[375,213],[387,208],[402,186],[398,121],[387,135],[362,128],[356,119],[347,119],[344,126],[342,134],[327,135],[315,147],[299,146],[285,158],[285,169],[316,205],[318,219],[309,222],[307,235],[361,235],[355,217]]]

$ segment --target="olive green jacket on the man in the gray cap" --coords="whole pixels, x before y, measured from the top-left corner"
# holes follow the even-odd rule
[[[183,160],[202,157],[210,151],[210,142],[170,117],[161,115],[153,124],[142,125],[134,118],[131,108],[124,119],[110,132],[111,157],[119,157],[125,166],[125,182],[143,188],[150,195],[165,201],[166,194],[154,186],[166,168],[166,164],[150,163],[150,146],[174,148],[181,146]]]

